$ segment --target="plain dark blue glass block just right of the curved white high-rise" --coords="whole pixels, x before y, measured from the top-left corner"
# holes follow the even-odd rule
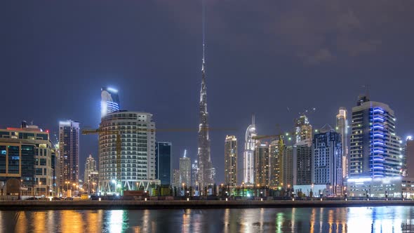
[[[171,142],[156,142],[155,174],[161,185],[171,185]]]

